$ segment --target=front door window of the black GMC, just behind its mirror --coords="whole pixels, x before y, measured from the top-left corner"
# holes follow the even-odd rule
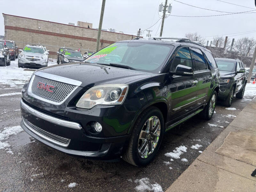
[[[175,72],[178,65],[185,65],[193,68],[191,55],[188,47],[180,48],[177,52],[174,61],[172,62],[171,71]]]

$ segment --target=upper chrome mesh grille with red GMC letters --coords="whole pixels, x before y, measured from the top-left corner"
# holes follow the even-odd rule
[[[30,82],[31,85],[29,85],[31,86],[31,92],[45,100],[53,101],[54,104],[64,101],[77,87],[75,85],[53,81],[36,75],[31,79],[31,81],[33,81]],[[39,82],[41,83],[41,88],[38,88],[37,86]],[[44,85],[42,86],[42,84]],[[49,91],[45,88],[47,85],[52,85],[54,88]]]

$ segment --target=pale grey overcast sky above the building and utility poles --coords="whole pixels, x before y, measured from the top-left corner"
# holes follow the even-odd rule
[[[254,0],[223,0],[250,8],[223,3],[217,0],[177,0],[193,6],[222,11],[209,11],[168,0],[172,5],[171,15],[180,16],[205,16],[227,14],[225,12],[245,12],[256,7]],[[92,23],[93,28],[98,28],[100,19],[101,0],[1,0],[1,11],[6,14],[18,15],[40,20],[49,20],[68,24],[77,21]],[[103,29],[115,28],[126,34],[137,35],[139,28],[145,30],[155,24],[161,12],[158,6],[164,0],[106,0],[103,18]],[[255,11],[256,12],[256,11]],[[163,36],[182,37],[186,32],[198,32],[201,36],[227,35],[230,38],[243,36],[255,37],[256,32],[248,34],[234,34],[245,31],[256,31],[256,13],[232,14],[216,17],[175,17],[169,16],[164,22]],[[150,30],[152,36],[160,34],[159,20]],[[0,35],[4,35],[4,18],[0,19]],[[236,36],[234,36],[236,35]],[[146,37],[146,31],[142,36]],[[212,37],[205,37],[211,40]]]

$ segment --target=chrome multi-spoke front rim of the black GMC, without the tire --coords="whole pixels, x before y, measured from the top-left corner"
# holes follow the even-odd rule
[[[139,156],[148,158],[157,146],[160,137],[161,124],[157,116],[150,117],[143,125],[138,141]]]

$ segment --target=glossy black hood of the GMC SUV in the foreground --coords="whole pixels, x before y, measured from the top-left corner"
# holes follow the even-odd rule
[[[39,69],[37,71],[63,76],[81,81],[82,87],[93,87],[99,84],[125,84],[156,74],[131,69],[110,67],[90,63],[68,63]]]

